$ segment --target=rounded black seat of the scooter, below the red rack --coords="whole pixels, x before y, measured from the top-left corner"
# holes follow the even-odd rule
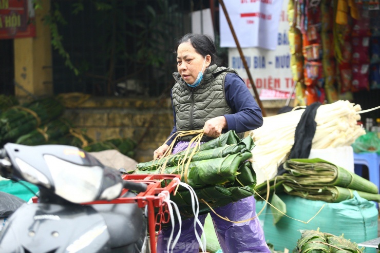
[[[146,231],[145,217],[137,204],[96,204],[92,207],[107,224],[112,248],[134,243]]]

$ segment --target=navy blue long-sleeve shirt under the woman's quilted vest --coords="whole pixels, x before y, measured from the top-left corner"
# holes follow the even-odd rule
[[[227,73],[224,79],[224,90],[227,103],[234,111],[233,114],[224,114],[227,121],[225,131],[235,130],[237,133],[254,130],[262,126],[262,113],[251,92],[246,87],[240,76],[234,73]],[[170,94],[170,96],[172,96]],[[173,105],[173,98],[172,98]],[[168,139],[177,132],[176,111],[173,107],[174,127]],[[175,136],[173,135],[166,144],[170,145]]]

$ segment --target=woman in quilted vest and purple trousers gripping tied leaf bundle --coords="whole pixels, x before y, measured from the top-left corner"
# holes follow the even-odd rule
[[[244,132],[262,125],[262,114],[248,88],[231,68],[219,67],[219,59],[212,39],[203,34],[188,33],[177,43],[176,84],[172,89],[174,127],[177,131],[204,130],[202,142],[235,130],[240,138]],[[173,153],[187,148],[193,137],[186,136],[176,143]],[[174,137],[154,152],[154,159],[161,158]],[[221,217],[240,221],[255,216],[253,197],[215,208]],[[216,234],[224,253],[270,252],[265,243],[258,219],[245,223],[232,223],[220,219],[213,212]],[[204,224],[206,215],[199,216]],[[172,227],[163,228],[158,237],[157,252],[166,252]],[[201,229],[197,227],[200,236]],[[178,227],[174,228],[177,235]],[[181,237],[173,252],[198,252],[199,244],[194,231],[194,219],[182,221]]]

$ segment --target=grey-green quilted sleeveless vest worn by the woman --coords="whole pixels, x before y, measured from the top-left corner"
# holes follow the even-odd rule
[[[187,86],[178,72],[173,73],[177,81],[172,89],[177,131],[202,129],[207,120],[234,113],[225,99],[224,77],[227,73],[237,74],[237,71],[212,65],[205,70],[201,83],[195,88]],[[238,136],[241,139],[244,133],[239,133]],[[193,135],[188,135],[180,141],[190,141],[193,138]],[[202,141],[211,139],[204,136]]]

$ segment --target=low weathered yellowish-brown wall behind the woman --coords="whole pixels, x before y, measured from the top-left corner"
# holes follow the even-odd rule
[[[274,115],[284,101],[263,101],[267,115]],[[90,98],[75,108],[67,108],[65,117],[96,141],[131,138],[138,143],[137,162],[153,159],[173,128],[169,99]]]

